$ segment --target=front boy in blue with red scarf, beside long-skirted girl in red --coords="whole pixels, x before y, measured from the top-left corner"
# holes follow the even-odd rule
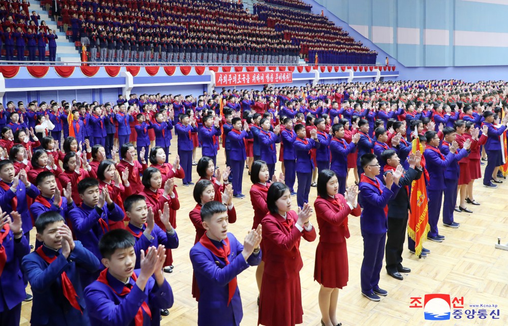
[[[243,245],[228,228],[228,208],[208,202],[201,208],[206,233],[190,249],[198,282],[198,325],[240,325],[243,317],[237,275],[261,263],[261,224],[251,230]]]

